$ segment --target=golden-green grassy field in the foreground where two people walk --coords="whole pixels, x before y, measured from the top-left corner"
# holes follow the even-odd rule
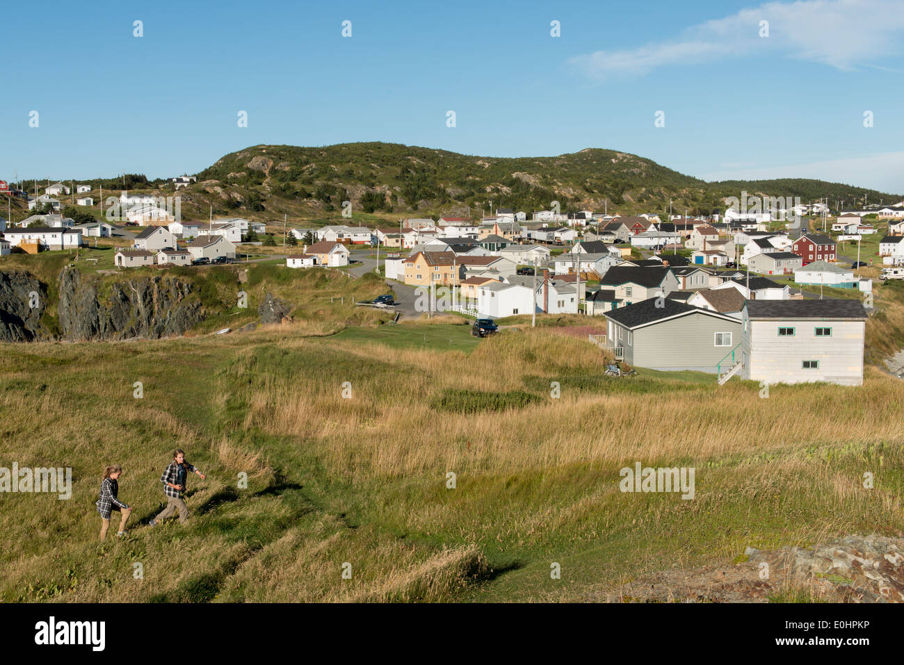
[[[600,377],[597,347],[550,328],[329,333],[312,317],[226,337],[4,345],[7,464],[71,466],[75,486],[70,501],[4,495],[0,529],[17,547],[0,554],[0,599],[586,600],[746,546],[904,530],[904,383],[875,368],[862,389],[760,398],[757,384],[692,372]],[[190,481],[193,520],[137,526],[164,505],[175,446],[208,474]],[[635,462],[695,467],[696,498],[619,492]],[[111,463],[136,524],[100,545]]]

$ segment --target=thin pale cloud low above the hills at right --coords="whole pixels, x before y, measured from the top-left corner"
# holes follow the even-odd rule
[[[880,192],[904,192],[904,152],[863,155],[810,164],[762,166],[704,173],[702,180],[771,180],[773,178],[815,178],[830,183],[868,187]],[[886,201],[888,202],[888,201]]]

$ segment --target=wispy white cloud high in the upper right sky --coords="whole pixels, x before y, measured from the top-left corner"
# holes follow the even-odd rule
[[[760,37],[760,21],[769,36]],[[663,65],[689,65],[754,53],[821,62],[839,70],[870,65],[899,53],[904,36],[901,0],[804,0],[766,3],[694,25],[668,42],[625,51],[597,51],[570,59],[589,77],[645,74]]]

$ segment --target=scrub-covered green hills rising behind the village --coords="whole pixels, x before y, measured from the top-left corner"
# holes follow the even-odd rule
[[[101,183],[105,192],[174,195],[166,181],[127,174]],[[26,183],[27,185],[27,183]],[[43,183],[39,183],[39,187]],[[547,209],[560,201],[562,211],[584,208],[610,212],[673,210],[709,214],[724,208],[724,199],[741,191],[768,196],[820,197],[854,201],[899,201],[900,194],[875,192],[841,183],[784,179],[705,183],[628,153],[587,148],[550,157],[500,158],[460,155],[412,145],[353,143],[321,147],[255,145],[230,155],[198,173],[198,182],[179,190],[185,219],[241,215],[273,221],[340,219],[342,201],[352,201],[357,222],[398,220],[401,215],[470,214],[510,207]],[[31,189],[29,191],[32,191]],[[105,196],[106,198],[106,196]],[[17,219],[19,219],[17,217]]]

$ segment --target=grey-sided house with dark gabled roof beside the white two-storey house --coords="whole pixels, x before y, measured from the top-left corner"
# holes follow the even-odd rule
[[[738,360],[739,319],[651,298],[605,313],[607,346],[629,365],[653,370],[724,373]]]

